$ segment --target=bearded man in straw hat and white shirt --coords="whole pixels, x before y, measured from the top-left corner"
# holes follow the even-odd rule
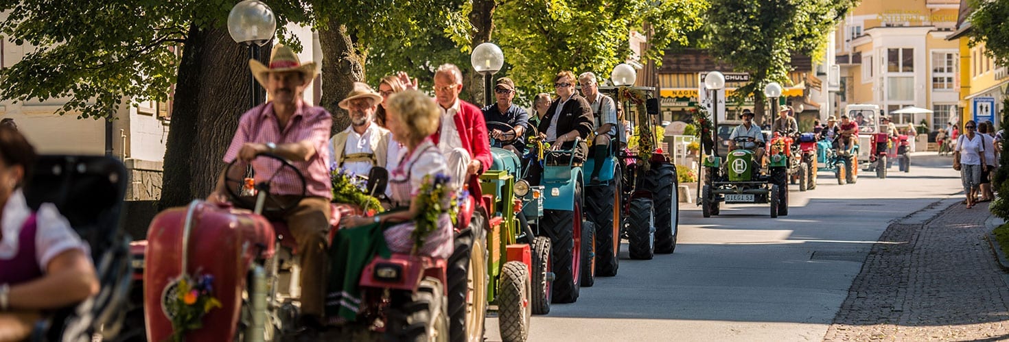
[[[350,116],[350,126],[330,139],[336,167],[355,175],[367,175],[372,166],[386,167],[389,132],[372,122],[381,101],[381,95],[360,82],[340,101],[340,108]]]

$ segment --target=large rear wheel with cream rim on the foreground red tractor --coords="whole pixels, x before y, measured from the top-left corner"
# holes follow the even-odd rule
[[[473,212],[469,226],[455,236],[448,259],[448,317],[452,341],[482,341],[487,312],[486,219]]]

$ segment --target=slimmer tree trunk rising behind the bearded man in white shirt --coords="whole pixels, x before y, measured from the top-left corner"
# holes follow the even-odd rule
[[[350,117],[347,111],[340,109],[339,103],[354,88],[354,82],[364,82],[365,55],[354,47],[354,39],[346,26],[334,25],[331,23],[319,30],[319,43],[325,55],[319,105],[332,113],[332,132],[336,133],[350,125]]]

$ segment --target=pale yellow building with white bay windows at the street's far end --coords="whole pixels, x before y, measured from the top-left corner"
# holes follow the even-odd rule
[[[960,102],[960,44],[945,39],[959,6],[959,0],[866,0],[854,8],[835,30],[843,83],[836,108],[875,104],[890,113],[915,106],[933,113],[891,115],[895,123],[944,127]]]

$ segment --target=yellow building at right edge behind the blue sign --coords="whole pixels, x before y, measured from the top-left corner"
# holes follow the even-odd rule
[[[1005,66],[998,66],[995,60],[985,54],[985,44],[971,47],[969,33],[971,22],[968,17],[973,10],[967,0],[960,3],[957,31],[947,36],[960,47],[960,122],[968,120],[992,120],[1000,123],[1003,110],[1002,100],[1009,89],[1009,73]]]

